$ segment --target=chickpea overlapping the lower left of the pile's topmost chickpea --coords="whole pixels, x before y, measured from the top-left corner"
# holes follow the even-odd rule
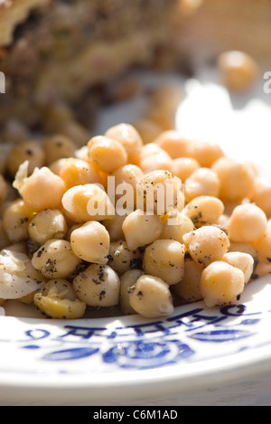
[[[97,165],[101,171],[112,173],[120,166],[127,164],[128,155],[121,142],[105,136],[93,137],[89,140],[89,161]]]

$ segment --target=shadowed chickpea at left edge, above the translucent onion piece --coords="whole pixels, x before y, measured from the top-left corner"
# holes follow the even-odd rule
[[[33,215],[27,211],[22,199],[10,203],[3,213],[3,229],[12,243],[28,239],[28,225]]]

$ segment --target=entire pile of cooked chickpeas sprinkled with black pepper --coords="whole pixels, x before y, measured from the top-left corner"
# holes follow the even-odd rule
[[[271,271],[271,183],[218,145],[173,129],[144,143],[123,123],[80,148],[63,136],[25,142],[6,161],[14,182],[1,176],[4,308],[15,299],[59,319],[111,306],[169,316],[183,303],[234,303],[252,278]],[[135,193],[184,184],[183,203],[159,215],[133,199],[134,211],[114,213],[109,175]],[[89,199],[106,201],[106,211],[91,215]]]

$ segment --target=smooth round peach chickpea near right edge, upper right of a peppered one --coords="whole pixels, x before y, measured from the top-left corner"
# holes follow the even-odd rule
[[[255,241],[266,231],[266,225],[266,214],[256,204],[240,204],[229,218],[229,240],[239,243]]]

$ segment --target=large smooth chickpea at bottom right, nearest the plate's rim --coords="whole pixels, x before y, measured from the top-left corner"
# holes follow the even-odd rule
[[[244,272],[223,260],[214,261],[203,269],[200,287],[206,306],[230,305],[244,291]]]

